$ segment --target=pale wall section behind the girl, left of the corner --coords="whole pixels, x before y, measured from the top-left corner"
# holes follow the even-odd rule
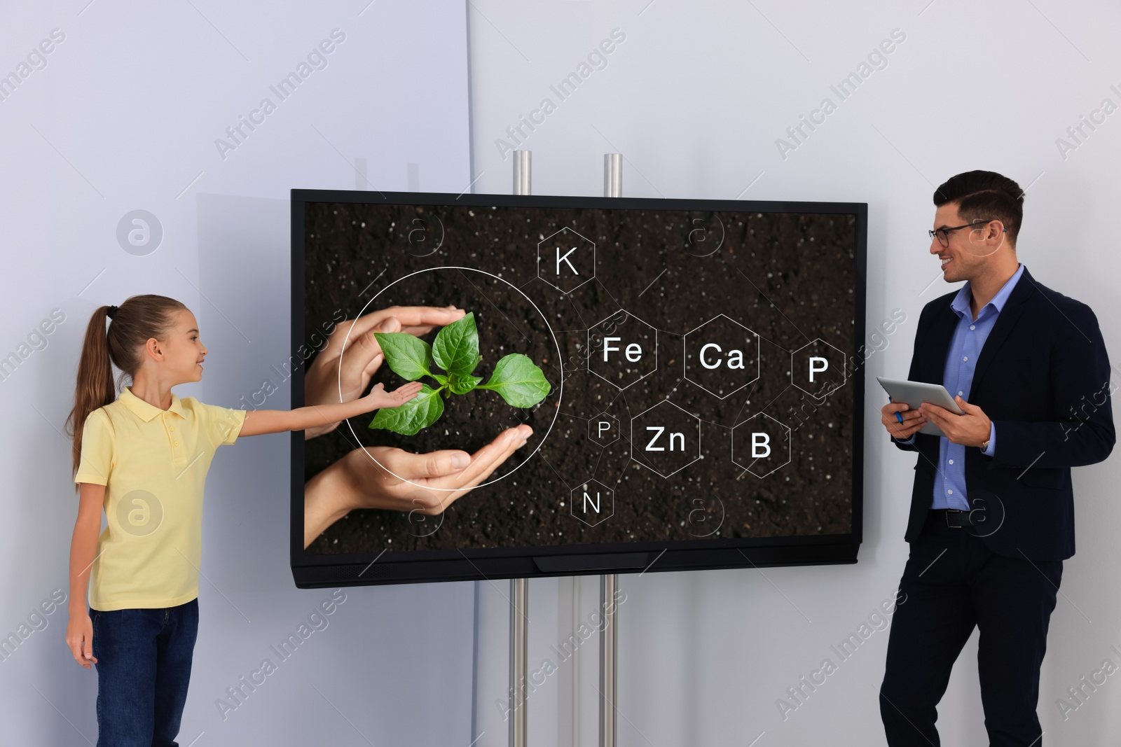
[[[471,181],[460,0],[87,2],[0,7],[0,74],[52,29],[65,35],[0,100],[0,355],[18,355],[52,309],[65,315],[0,381],[3,636],[55,589],[68,592],[77,496],[62,431],[96,306],[146,292],[180,299],[211,352],[204,381],[176,392],[243,407],[239,398],[271,379],[280,390],[269,403],[287,409],[289,386],[269,364],[288,358],[288,190],[458,193]],[[336,28],[345,39],[326,67],[280,101],[269,86]],[[266,96],[276,111],[222,158],[215,139]],[[145,255],[117,237],[135,209],[163,228]],[[179,744],[466,745],[471,583],[348,589],[288,661],[270,650],[333,591],[293,583],[287,474],[275,468],[287,443],[239,440],[211,469]],[[64,643],[65,604],[43,619],[0,661],[0,741],[92,745],[96,673]],[[215,700],[266,657],[278,671],[223,719]]]

